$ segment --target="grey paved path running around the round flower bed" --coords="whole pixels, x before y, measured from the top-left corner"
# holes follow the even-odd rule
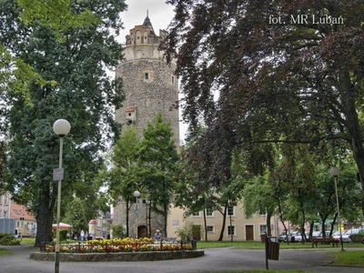
[[[36,252],[29,246],[4,247],[13,253],[0,256],[0,273],[55,272],[55,262],[35,261],[29,258]],[[301,269],[307,272],[362,273],[363,268],[327,267],[333,257],[320,250],[281,249],[279,260],[269,260],[269,269]],[[205,249],[205,256],[167,261],[145,262],[64,262],[60,273],[207,273],[223,270],[265,269],[264,250],[234,248]]]

